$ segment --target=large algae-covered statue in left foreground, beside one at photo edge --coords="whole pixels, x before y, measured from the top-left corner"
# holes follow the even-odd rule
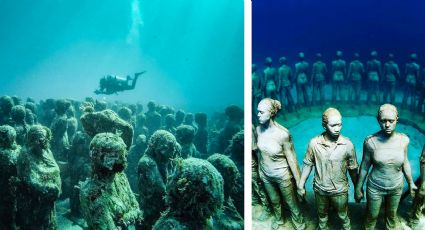
[[[34,125],[27,149],[18,157],[18,214],[21,229],[56,229],[55,201],[61,192],[60,170],[50,151],[50,129]]]

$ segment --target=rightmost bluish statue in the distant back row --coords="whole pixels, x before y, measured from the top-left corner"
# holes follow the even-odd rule
[[[415,53],[410,55],[410,62],[405,67],[405,87],[403,90],[403,99],[401,106],[404,108],[407,105],[407,101],[410,98],[410,111],[415,109],[416,104],[416,86],[419,82],[419,71],[420,66],[416,62],[417,55]],[[419,101],[419,103],[422,103]]]

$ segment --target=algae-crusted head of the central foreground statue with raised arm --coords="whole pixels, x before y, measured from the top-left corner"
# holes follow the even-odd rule
[[[90,142],[90,159],[94,172],[121,172],[127,166],[126,144],[113,133],[99,133]]]

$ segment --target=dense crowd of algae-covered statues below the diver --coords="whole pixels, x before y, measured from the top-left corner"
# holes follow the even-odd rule
[[[208,119],[153,101],[2,96],[0,118],[0,229],[57,229],[65,198],[89,229],[243,229],[237,106]]]

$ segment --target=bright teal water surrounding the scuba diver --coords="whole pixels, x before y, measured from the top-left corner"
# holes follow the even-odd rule
[[[105,98],[243,106],[242,0],[0,0],[0,28],[1,95],[83,99],[106,74],[147,70]]]

